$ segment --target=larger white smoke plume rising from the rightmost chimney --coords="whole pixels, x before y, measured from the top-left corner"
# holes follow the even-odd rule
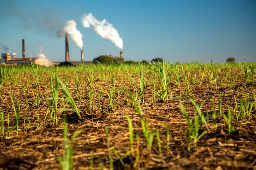
[[[83,27],[90,28],[90,26],[93,27],[94,31],[101,35],[102,38],[105,40],[111,40],[116,47],[118,47],[120,50],[123,50],[124,42],[119,37],[118,31],[113,27],[113,24],[110,24],[105,19],[102,21],[98,21],[92,13],[86,14],[84,13],[81,22],[83,24]]]

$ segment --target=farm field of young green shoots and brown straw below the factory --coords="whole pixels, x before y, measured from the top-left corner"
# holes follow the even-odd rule
[[[0,66],[0,170],[256,169],[256,63]]]

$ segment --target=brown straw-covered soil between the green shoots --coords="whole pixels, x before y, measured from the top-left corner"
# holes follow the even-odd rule
[[[233,72],[233,71],[232,71]],[[234,71],[238,74],[239,71]],[[115,96],[115,109],[108,109],[109,98],[105,93],[108,89],[106,82],[95,79],[94,89],[98,91],[103,88],[103,97],[100,99],[100,108],[98,104],[98,94],[93,98],[94,110],[90,113],[90,104],[88,97],[89,86],[85,87],[87,82],[81,86],[81,100],[79,101],[76,88],[73,88],[73,82],[68,84],[72,97],[76,105],[81,110],[81,117],[71,111],[58,110],[58,123],[50,124],[49,106],[47,97],[51,97],[49,91],[48,75],[45,73],[43,79],[40,79],[40,86],[34,86],[34,77],[32,73],[25,73],[22,81],[15,84],[13,82],[4,82],[0,97],[0,110],[4,114],[5,137],[0,137],[0,170],[54,170],[61,169],[58,157],[63,157],[64,136],[63,136],[63,117],[67,116],[68,138],[76,130],[82,132],[76,137],[74,142],[74,169],[75,170],[97,170],[109,169],[109,155],[112,157],[114,169],[137,169],[137,170],[256,170],[256,111],[253,106],[249,120],[243,119],[236,121],[235,117],[232,124],[235,124],[234,132],[228,133],[224,119],[221,119],[219,112],[219,100],[222,100],[222,113],[227,114],[228,106],[234,110],[236,103],[234,97],[240,104],[243,94],[251,95],[256,93],[254,83],[245,84],[243,79],[236,79],[236,86],[223,88],[213,86],[209,88],[207,77],[204,76],[203,83],[190,85],[190,97],[198,105],[204,102],[202,113],[206,116],[209,113],[210,132],[204,135],[197,143],[191,144],[191,150],[188,150],[188,124],[180,111],[179,102],[181,101],[191,118],[195,113],[195,108],[188,97],[178,97],[175,99],[156,99],[153,102],[153,87],[144,87],[145,103],[141,103],[141,110],[144,121],[148,121],[148,126],[155,132],[159,132],[161,140],[162,153],[159,153],[157,138],[153,139],[153,147],[150,152],[147,149],[144,134],[141,128],[140,118],[136,108],[132,107],[128,93],[123,91]],[[86,75],[83,76],[84,80]],[[191,75],[200,77],[200,75]],[[222,79],[225,75],[220,75]],[[64,75],[60,75],[61,78]],[[72,75],[75,77],[75,75]],[[236,77],[234,75],[234,77]],[[28,80],[31,79],[31,80]],[[81,78],[82,79],[82,78]],[[116,78],[116,88],[124,84],[124,80]],[[64,81],[64,79],[63,79]],[[136,80],[137,81],[137,80]],[[160,83],[160,82],[159,82]],[[224,82],[227,84],[227,82]],[[207,86],[208,84],[208,86]],[[24,86],[26,94],[23,94]],[[170,82],[173,97],[186,95],[186,86],[181,83],[181,88],[173,81]],[[132,81],[126,86],[134,96],[138,91]],[[30,88],[32,87],[32,88]],[[86,90],[85,90],[86,89]],[[9,133],[7,124],[7,111],[9,112],[9,129],[15,127],[14,111],[10,100],[10,94],[13,94],[15,105],[19,100],[19,129]],[[38,93],[40,101],[35,103],[35,96]],[[243,94],[241,94],[243,93]],[[44,99],[42,97],[44,96]],[[59,93],[63,97],[63,93]],[[157,96],[158,97],[158,96]],[[168,91],[170,98],[170,89]],[[65,98],[65,97],[64,97]],[[26,101],[27,99],[27,101]],[[128,100],[129,99],[129,100]],[[49,99],[53,107],[52,100]],[[218,128],[213,126],[212,102],[217,110]],[[59,108],[72,108],[70,104],[65,106],[65,102],[59,102]],[[47,118],[45,115],[48,113]],[[38,123],[39,115],[39,123]],[[124,154],[131,150],[128,121],[125,115],[129,115],[133,126],[134,154]],[[44,121],[45,119],[45,121]],[[29,121],[30,124],[29,124]],[[1,124],[1,123],[0,123]],[[41,126],[40,126],[41,125]],[[166,142],[166,126],[169,127],[170,141]],[[108,150],[106,128],[109,132],[110,150]],[[201,126],[200,132],[206,130]],[[185,132],[185,133],[184,133]],[[139,140],[136,138],[138,133]],[[2,133],[1,133],[2,134]],[[114,152],[116,151],[116,153]],[[132,168],[137,154],[139,153],[137,166]],[[122,157],[123,165],[118,157]]]

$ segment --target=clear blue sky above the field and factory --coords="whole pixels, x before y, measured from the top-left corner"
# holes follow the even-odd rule
[[[120,50],[81,17],[92,13],[106,19],[124,42],[125,60],[166,62],[256,62],[256,0],[0,0],[0,53],[4,47],[22,56],[36,56],[40,46],[50,61],[65,60],[65,40],[54,26],[74,20],[83,35],[84,60],[100,55],[119,56]],[[69,40],[70,60],[81,49]]]

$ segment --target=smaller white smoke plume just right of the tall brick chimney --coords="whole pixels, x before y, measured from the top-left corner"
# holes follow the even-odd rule
[[[76,22],[74,20],[66,21],[63,31],[70,35],[71,40],[76,44],[76,46],[80,49],[83,48],[83,35],[76,29]]]

